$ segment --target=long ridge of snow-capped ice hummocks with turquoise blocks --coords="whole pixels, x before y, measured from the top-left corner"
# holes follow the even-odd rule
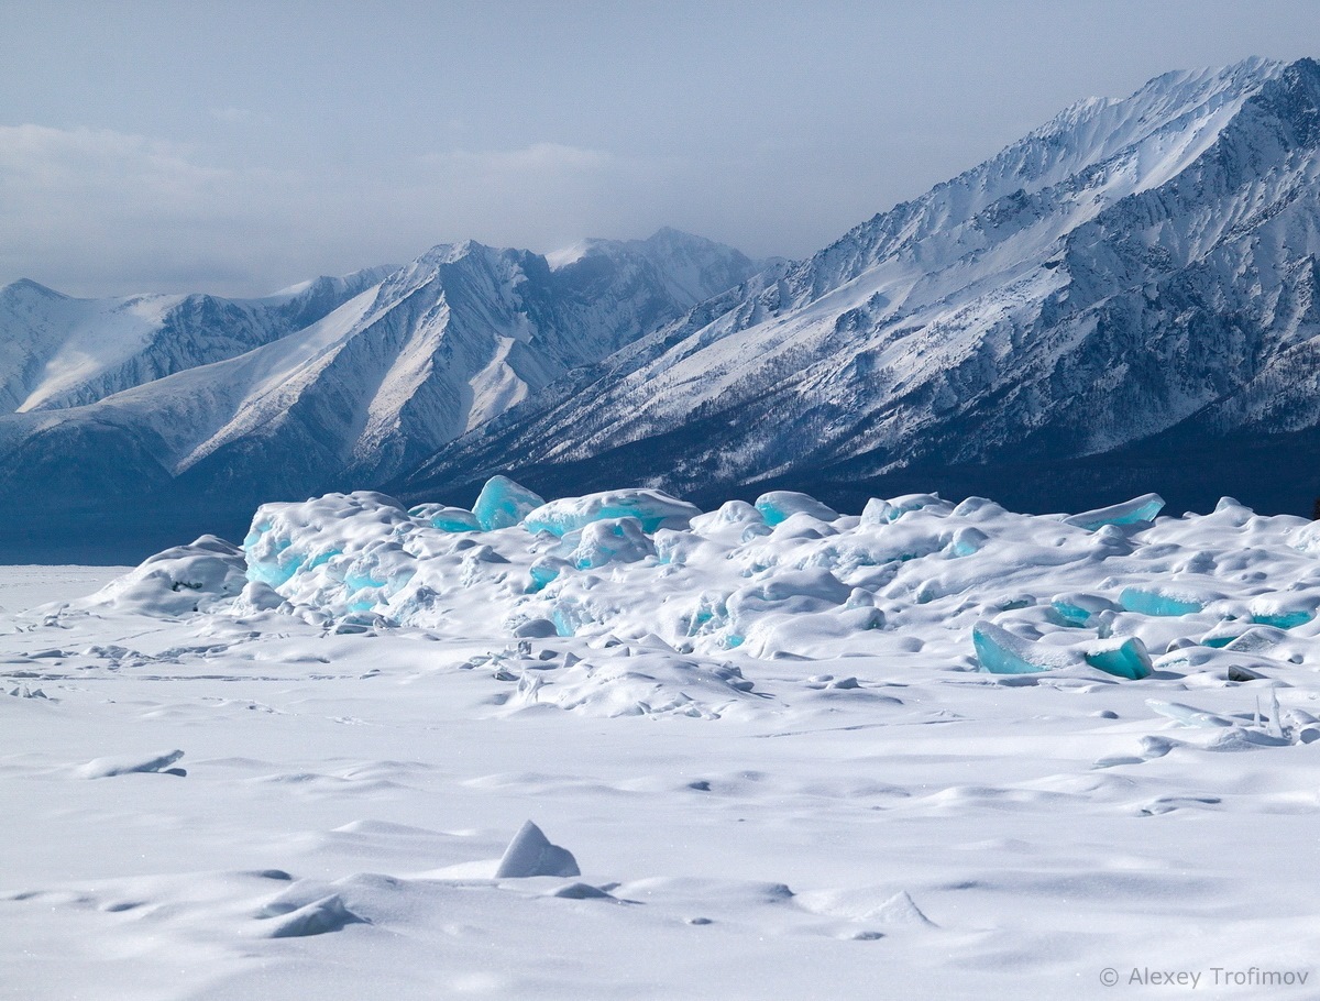
[[[1151,676],[1156,664],[1220,656],[1236,658],[1224,662],[1225,676],[1257,671],[1261,658],[1296,663],[1320,607],[1320,577],[1295,544],[1296,520],[1239,506],[1119,531],[1115,518],[1150,514],[1152,500],[1137,498],[1102,508],[1109,520],[1092,531],[1076,519],[932,494],[876,498],[861,518],[787,491],[709,514],[644,489],[532,507],[537,499],[495,477],[479,516],[441,504],[405,510],[370,491],[265,504],[242,551],[215,539],[166,551],[95,602],[162,617],[294,614],[346,633],[645,637],[698,664],[733,651],[902,664],[916,650],[940,648],[950,666],[991,673],[1089,667],[1126,680]],[[1269,552],[1271,565],[1292,568],[1287,584],[1242,573],[1242,552]],[[655,670],[705,677],[689,667]],[[528,697],[686,710],[673,693],[657,699],[632,681],[624,697],[569,696],[603,692],[611,679],[591,671],[561,681],[553,697],[550,689]],[[727,685],[701,685],[710,701],[688,708],[722,712]],[[690,681],[689,697],[701,685]]]

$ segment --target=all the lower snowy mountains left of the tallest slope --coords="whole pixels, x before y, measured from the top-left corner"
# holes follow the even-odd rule
[[[317,283],[257,302],[108,304],[20,283],[3,293],[11,341],[29,347],[8,366],[21,412],[0,417],[0,503],[193,510],[205,527],[207,511],[378,485],[756,267],[672,230],[553,263],[469,242],[342,287],[314,317]],[[280,320],[294,314],[314,322]]]

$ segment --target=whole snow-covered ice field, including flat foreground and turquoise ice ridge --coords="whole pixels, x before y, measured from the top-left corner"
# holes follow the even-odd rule
[[[1160,507],[496,478],[3,568],[0,997],[1315,997],[1320,527]]]

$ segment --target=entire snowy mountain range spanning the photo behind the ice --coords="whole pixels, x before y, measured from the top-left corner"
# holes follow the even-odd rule
[[[494,473],[1309,512],[1317,152],[1320,66],[1253,59],[1076,104],[795,263],[663,230],[264,300],[17,283],[0,547],[164,544],[329,489],[470,500]]]

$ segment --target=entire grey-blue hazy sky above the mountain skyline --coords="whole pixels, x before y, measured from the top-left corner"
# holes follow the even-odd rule
[[[257,296],[477,239],[805,256],[1315,0],[4,3],[0,285]]]

